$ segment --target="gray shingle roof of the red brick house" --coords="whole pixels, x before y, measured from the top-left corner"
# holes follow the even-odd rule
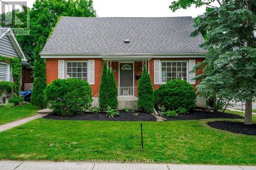
[[[192,17],[61,17],[41,54],[205,53]],[[124,43],[130,39],[130,43]]]

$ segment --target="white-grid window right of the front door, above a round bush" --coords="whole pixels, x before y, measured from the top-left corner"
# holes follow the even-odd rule
[[[187,61],[162,61],[162,83],[169,80],[187,80]]]

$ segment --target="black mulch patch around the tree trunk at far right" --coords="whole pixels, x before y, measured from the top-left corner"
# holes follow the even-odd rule
[[[256,136],[256,124],[245,125],[242,122],[216,121],[208,122],[207,125],[215,129],[229,131],[232,133]]]

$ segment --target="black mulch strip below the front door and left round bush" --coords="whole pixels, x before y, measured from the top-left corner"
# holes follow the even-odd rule
[[[73,116],[60,116],[55,114],[49,114],[44,118],[55,119],[55,120],[112,120],[112,121],[156,121],[156,117],[148,113],[138,113],[138,116],[133,116],[133,113],[126,113],[119,111],[119,116],[107,117],[106,114],[94,114],[85,113]]]

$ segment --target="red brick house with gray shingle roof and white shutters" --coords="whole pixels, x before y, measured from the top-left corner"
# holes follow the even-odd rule
[[[154,89],[173,79],[196,87],[198,82],[191,80],[196,75],[189,71],[207,52],[199,47],[201,35],[190,37],[193,25],[192,17],[61,17],[40,53],[46,58],[47,84],[68,78],[88,81],[97,101],[106,60],[114,70],[119,106],[126,98],[136,101],[144,65]]]

